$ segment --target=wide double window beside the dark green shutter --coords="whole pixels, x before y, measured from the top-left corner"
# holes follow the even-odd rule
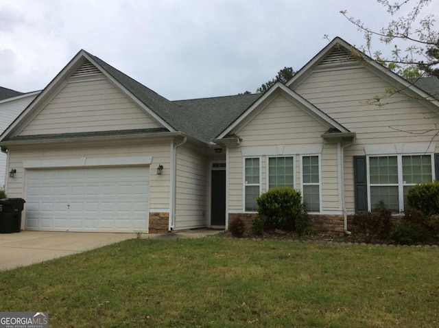
[[[408,208],[407,191],[433,180],[432,155],[369,156],[369,208],[383,202],[399,213]]]

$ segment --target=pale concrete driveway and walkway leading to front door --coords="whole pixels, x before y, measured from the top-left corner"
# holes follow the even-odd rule
[[[218,230],[190,230],[166,234],[143,234],[145,239],[199,238],[219,233]],[[29,266],[65,255],[82,253],[109,244],[136,238],[135,233],[62,233],[21,231],[0,233],[0,271]]]

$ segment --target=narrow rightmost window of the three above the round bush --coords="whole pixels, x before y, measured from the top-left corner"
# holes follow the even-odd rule
[[[302,156],[302,196],[309,212],[320,212],[320,158]]]

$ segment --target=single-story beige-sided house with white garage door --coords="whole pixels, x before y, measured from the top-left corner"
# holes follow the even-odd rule
[[[343,233],[380,200],[403,211],[439,169],[439,103],[353,51],[335,38],[263,95],[177,102],[80,51],[0,137],[23,228],[227,228],[279,185],[318,229]],[[370,104],[389,88],[402,92]]]

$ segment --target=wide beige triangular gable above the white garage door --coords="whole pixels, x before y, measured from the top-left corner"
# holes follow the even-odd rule
[[[174,130],[80,51],[3,133],[14,137],[123,130]]]

